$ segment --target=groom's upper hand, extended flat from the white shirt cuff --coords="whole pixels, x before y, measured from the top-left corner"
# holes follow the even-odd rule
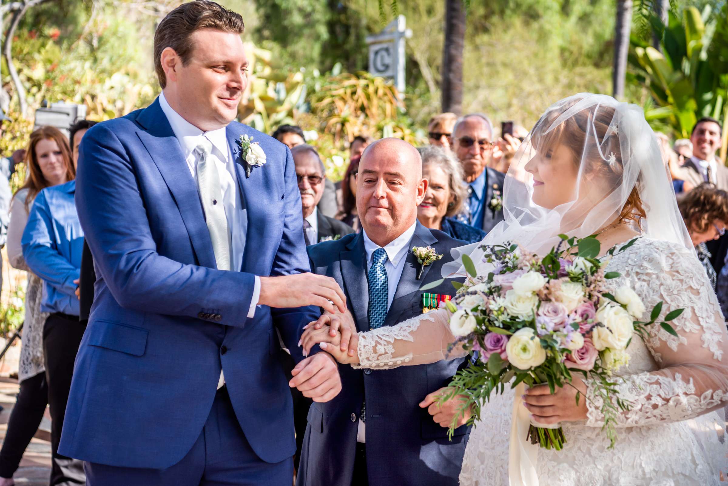
[[[318,306],[331,314],[347,310],[347,296],[336,280],[316,274],[261,276],[258,303],[284,308]]]

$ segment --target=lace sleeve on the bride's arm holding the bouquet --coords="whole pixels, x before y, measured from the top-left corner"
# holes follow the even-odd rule
[[[616,380],[620,397],[631,402],[630,410],[617,417],[620,427],[684,421],[724,407],[728,399],[728,366],[723,360],[728,348],[726,324],[705,270],[684,248],[655,244],[646,245],[636,260],[630,260],[635,265],[628,271],[630,283],[648,313],[660,300],[663,318],[671,310],[685,310],[671,322],[677,337],[657,323],[648,328],[646,346],[660,369]],[[587,393],[591,398],[587,425],[602,426],[603,402],[590,386]]]

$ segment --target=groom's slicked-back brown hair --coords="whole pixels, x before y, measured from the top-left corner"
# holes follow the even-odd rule
[[[162,88],[167,85],[167,76],[162,69],[162,51],[167,47],[175,49],[182,64],[186,65],[194,47],[191,36],[202,29],[240,34],[245,31],[245,24],[240,14],[209,0],[190,1],[168,13],[154,32],[154,69]]]

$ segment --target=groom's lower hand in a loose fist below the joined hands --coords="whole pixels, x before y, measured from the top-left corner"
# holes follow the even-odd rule
[[[293,379],[288,382],[291,388],[313,399],[314,402],[328,402],[341,391],[339,365],[331,354],[316,353],[298,363],[291,371]]]

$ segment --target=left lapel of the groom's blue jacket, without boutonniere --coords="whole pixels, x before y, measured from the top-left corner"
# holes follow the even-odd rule
[[[197,187],[159,100],[143,110],[137,121],[146,129],[146,132],[138,132],[138,136],[175,199],[197,261],[201,266],[217,268]]]

